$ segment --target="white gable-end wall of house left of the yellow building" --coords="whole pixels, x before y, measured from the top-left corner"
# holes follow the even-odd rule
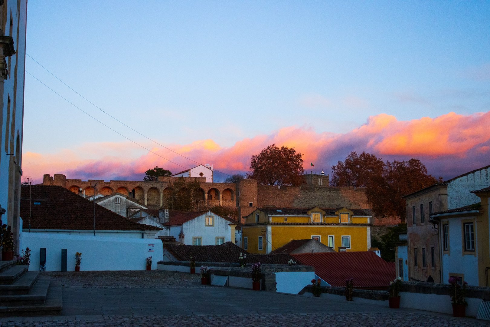
[[[205,226],[206,216],[214,216],[214,226]],[[225,242],[231,241],[230,222],[212,212],[203,214],[182,224],[184,231],[184,244],[192,245],[193,237],[202,237],[202,245],[216,245],[216,237],[224,237]],[[170,235],[179,241],[180,226],[171,226]]]

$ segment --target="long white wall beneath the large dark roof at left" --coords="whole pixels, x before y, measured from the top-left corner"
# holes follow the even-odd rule
[[[46,248],[46,270],[61,271],[61,249],[67,249],[67,270],[75,270],[75,252],[82,253],[81,271],[145,270],[146,259],[153,259],[152,269],[163,257],[158,239],[135,239],[52,233],[21,233],[22,249],[31,250],[29,270],[39,270],[39,253]],[[148,252],[148,245],[153,244]]]

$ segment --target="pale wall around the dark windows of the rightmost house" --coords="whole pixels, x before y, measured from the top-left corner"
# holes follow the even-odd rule
[[[469,285],[478,285],[478,247],[475,239],[475,254],[463,255],[463,219],[475,217],[450,218],[449,221],[449,254],[442,254],[442,282],[449,283],[449,274],[464,274]],[[445,220],[443,220],[444,222]],[[442,222],[442,224],[443,224]],[[475,221],[475,231],[478,230],[478,221]],[[476,238],[476,232],[475,232]],[[442,242],[442,237],[441,237]],[[442,248],[441,244],[441,248]]]

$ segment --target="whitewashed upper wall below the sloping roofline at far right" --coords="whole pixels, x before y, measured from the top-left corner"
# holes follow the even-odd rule
[[[447,209],[460,208],[480,202],[480,198],[469,191],[490,186],[490,167],[456,178],[447,185]]]

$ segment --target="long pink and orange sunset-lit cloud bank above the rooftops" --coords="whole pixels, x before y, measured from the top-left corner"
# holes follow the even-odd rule
[[[306,170],[310,169],[310,162],[314,162],[315,168],[328,173],[330,167],[343,160],[350,151],[367,151],[384,160],[416,157],[427,165],[429,173],[450,177],[460,173],[461,162],[465,159],[470,160],[467,163],[469,168],[489,163],[488,126],[490,112],[467,116],[451,112],[436,118],[423,117],[412,121],[398,121],[394,116],[380,114],[369,117],[366,124],[343,134],[317,133],[312,128],[290,126],[270,135],[243,139],[228,148],[204,139],[172,146],[171,149],[202,164],[213,164],[215,170],[224,174],[246,172],[250,157],[275,143],[294,147],[303,153]],[[25,176],[32,176],[36,182],[41,181],[43,174],[56,173],[82,179],[142,179],[144,172],[154,166],[177,173],[196,165],[161,147],[152,149],[161,157],[151,152],[125,156],[124,153],[139,151],[134,144],[100,143],[92,144],[90,149],[94,150],[94,154],[90,156],[87,151],[83,157],[74,154],[76,151],[68,150],[55,154],[25,152]],[[226,175],[217,173],[215,177],[222,180]]]

